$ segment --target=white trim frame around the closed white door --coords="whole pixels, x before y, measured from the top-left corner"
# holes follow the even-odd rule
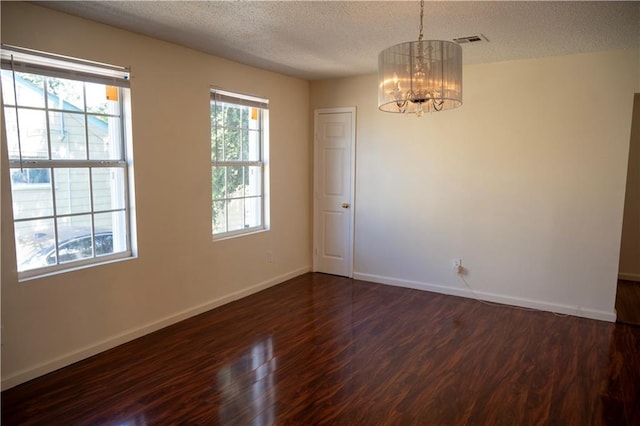
[[[340,114],[351,113],[351,165],[350,165],[350,193],[351,199],[347,200],[351,208],[349,209],[349,247],[347,248],[349,253],[348,277],[353,278],[353,258],[355,255],[355,198],[356,198],[356,107],[340,107],[340,108],[318,108],[313,113],[313,271],[318,270],[317,253],[318,248],[316,243],[320,238],[320,220],[318,212],[318,182],[319,182],[319,168],[318,168],[318,117],[320,114]]]

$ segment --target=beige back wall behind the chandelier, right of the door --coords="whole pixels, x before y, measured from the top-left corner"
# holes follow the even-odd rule
[[[356,277],[612,321],[638,51],[472,65],[464,105],[376,107],[375,75],[311,84],[357,107]]]

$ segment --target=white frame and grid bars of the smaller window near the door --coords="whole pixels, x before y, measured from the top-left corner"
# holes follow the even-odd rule
[[[214,124],[212,114],[210,114],[211,121],[211,235],[214,241],[224,240],[228,238],[235,238],[243,235],[250,235],[258,232],[264,232],[269,230],[269,100],[264,97],[257,97],[253,95],[247,95],[239,92],[231,92],[219,88],[210,89],[210,111],[216,107],[217,102],[221,102],[228,105],[235,105],[241,107],[256,108],[258,110],[258,122],[259,122],[259,155],[258,160],[219,160],[216,158],[216,146],[214,141],[214,132],[219,128],[229,129],[231,126],[217,126]],[[243,129],[243,128],[240,128]],[[246,130],[251,130],[247,127]],[[259,196],[247,196],[242,197],[224,197],[215,198],[215,182],[214,182],[214,170],[216,167],[259,167],[260,169],[260,195]],[[260,200],[260,224],[257,226],[245,227],[240,229],[234,229],[229,231],[229,216],[228,207],[226,208],[227,214],[225,215],[226,225],[224,232],[215,232],[215,203],[216,202],[229,202],[232,200],[246,200],[249,198],[259,198]],[[243,204],[244,208],[244,204]]]

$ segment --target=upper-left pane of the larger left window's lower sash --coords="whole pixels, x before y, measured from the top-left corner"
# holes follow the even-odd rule
[[[49,169],[11,169],[13,218],[27,219],[53,215],[51,172]]]

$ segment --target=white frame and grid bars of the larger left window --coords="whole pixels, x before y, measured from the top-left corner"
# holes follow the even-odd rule
[[[78,268],[96,266],[116,260],[129,259],[136,256],[135,250],[135,206],[134,206],[134,191],[133,191],[133,150],[132,150],[132,116],[131,116],[131,93],[130,93],[130,85],[129,85],[129,69],[125,67],[118,67],[108,64],[103,64],[99,62],[87,61],[83,59],[71,58],[61,55],[56,55],[47,52],[40,52],[31,49],[25,49],[16,46],[2,45],[2,51],[0,52],[1,59],[1,68],[3,71],[8,71],[11,73],[11,81],[10,84],[13,85],[14,90],[14,98],[11,99],[11,95],[8,96],[8,99],[5,99],[4,95],[0,102],[2,103],[3,111],[12,111],[15,115],[16,119],[16,129],[18,129],[18,158],[12,157],[12,154],[9,152],[7,146],[7,157],[8,157],[8,165],[9,165],[9,173],[11,174],[11,170],[21,169],[21,170],[30,170],[30,169],[46,169],[49,171],[49,183],[46,184],[33,184],[33,183],[15,183],[12,179],[10,182],[10,192],[9,196],[11,197],[12,204],[12,222],[14,224],[14,245],[16,250],[16,260],[19,261],[17,256],[18,251],[18,243],[17,243],[17,225],[22,222],[34,221],[34,220],[46,220],[51,221],[52,223],[52,242],[45,246],[42,249],[42,254],[45,255],[43,259],[45,266],[37,266],[30,269],[20,270],[22,265],[16,265],[18,269],[18,279],[19,281],[37,278],[40,276],[55,274],[55,273],[64,273],[68,271],[72,271]],[[36,75],[43,77],[43,105],[42,106],[26,106],[20,105],[20,102],[17,102],[18,93],[15,92],[17,86],[15,84],[16,80],[16,72],[27,73],[31,75]],[[75,80],[83,83],[82,86],[82,96],[83,96],[83,107],[81,110],[69,110],[63,107],[56,108],[55,104],[50,102],[50,96],[52,96],[47,90],[46,81],[48,78],[54,79],[65,79],[65,80]],[[106,112],[92,112],[88,109],[86,105],[86,86],[84,83],[97,83],[105,86],[114,86],[116,88],[116,92],[118,95],[117,105],[114,105],[115,111],[106,111]],[[58,96],[58,95],[53,95]],[[20,111],[39,111],[44,114],[45,117],[45,129],[44,138],[46,140],[47,145],[47,158],[25,158],[24,157],[24,147],[21,144],[20,131],[21,127],[24,127],[20,122]],[[78,118],[81,118],[84,126],[84,148],[85,148],[85,158],[84,159],[72,159],[72,158],[55,158],[54,152],[52,150],[52,126],[50,124],[51,114],[65,114],[72,113],[76,115]],[[108,159],[90,159],[91,158],[91,149],[90,149],[90,125],[89,121],[91,117],[116,117],[118,118],[117,127],[114,131],[117,135],[117,149],[118,155],[117,158],[108,158]],[[7,120],[7,114],[3,113],[4,121]],[[9,140],[6,136],[7,126],[5,127],[5,134],[3,135],[3,140],[8,145]],[[89,208],[88,210],[82,211],[71,211],[71,212],[60,212],[57,208],[57,200],[56,200],[56,170],[72,170],[72,169],[86,169],[88,182],[88,199],[89,199]],[[122,170],[122,173],[118,173],[121,178],[116,179],[119,180],[117,186],[115,187],[116,192],[121,193],[122,199],[122,207],[114,207],[111,208],[101,208],[96,204],[96,196],[100,194],[96,192],[97,190],[94,188],[94,183],[96,182],[96,177],[94,177],[95,170]],[[16,219],[15,218],[15,204],[13,199],[15,197],[16,191],[24,191],[29,189],[37,189],[32,187],[31,185],[47,185],[50,191],[51,196],[51,212],[50,214],[41,214],[38,216],[27,216]],[[73,194],[74,192],[70,192]],[[77,190],[76,190],[77,193]],[[72,196],[72,195],[71,195]],[[110,232],[112,234],[112,239],[116,238],[116,228],[114,224],[111,224],[111,228],[109,231],[104,231],[98,229],[98,225],[96,224],[96,215],[100,214],[114,214],[121,213],[123,219],[123,224],[121,228],[118,228],[118,231],[122,229],[122,231],[118,232],[118,237],[121,239],[122,244],[124,246],[124,250],[118,251],[117,253],[111,254],[99,254],[97,240],[98,237],[101,236],[105,232]],[[64,227],[64,221],[72,220],[73,217],[81,217],[86,216],[89,218],[90,226],[87,229],[88,234],[78,234],[78,235],[67,235],[63,236],[63,232],[61,231],[61,226]],[[111,219],[116,220],[116,219]],[[62,222],[60,222],[62,221]],[[66,245],[69,245],[70,242],[81,239],[88,236],[91,240],[92,244],[92,254],[90,257],[81,257],[80,259],[74,259],[70,261],[65,261],[60,258],[61,249],[64,249]],[[49,251],[50,248],[53,248],[54,253],[56,254],[56,262],[54,264],[48,264],[48,258],[51,257],[51,253]],[[46,253],[45,253],[46,251]],[[28,261],[28,257],[23,259]]]

